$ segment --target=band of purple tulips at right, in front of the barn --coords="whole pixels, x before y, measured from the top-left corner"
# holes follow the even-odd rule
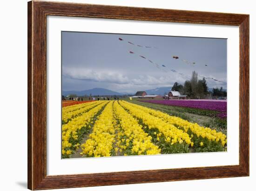
[[[143,102],[190,107],[204,110],[213,110],[220,113],[217,114],[219,118],[227,117],[227,102],[217,101],[201,101],[201,100],[143,100]]]

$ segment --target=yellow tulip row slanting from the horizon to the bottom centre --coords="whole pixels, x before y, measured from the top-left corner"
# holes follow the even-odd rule
[[[120,129],[117,133],[117,146],[115,151],[124,153],[124,155],[150,155],[160,154],[161,149],[151,142],[152,137],[144,132],[142,125],[126,112],[117,101],[114,102],[115,117],[120,123]],[[132,145],[132,148],[129,148]]]

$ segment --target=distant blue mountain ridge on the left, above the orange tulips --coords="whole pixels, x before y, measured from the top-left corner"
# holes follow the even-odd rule
[[[67,96],[70,94],[76,94],[77,96],[84,96],[84,95],[106,95],[106,96],[110,96],[110,95],[123,95],[119,92],[114,92],[105,88],[93,88],[90,90],[83,90],[83,91],[62,91],[62,95]]]

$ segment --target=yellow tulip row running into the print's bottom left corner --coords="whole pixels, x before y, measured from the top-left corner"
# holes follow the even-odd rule
[[[72,145],[72,143],[70,143],[70,138],[72,137],[76,140],[78,138],[78,131],[89,123],[93,123],[94,116],[108,103],[108,101],[99,101],[99,103],[99,105],[88,112],[82,113],[81,116],[78,116],[67,124],[62,125],[62,155],[70,155],[72,153],[72,149],[70,147],[78,148],[79,144],[77,143]]]

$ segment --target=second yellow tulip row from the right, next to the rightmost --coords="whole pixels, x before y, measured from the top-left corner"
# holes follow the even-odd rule
[[[177,127],[175,127],[175,125],[166,123],[162,119],[148,114],[148,112],[137,109],[134,105],[131,105],[126,101],[120,101],[120,105],[127,109],[133,116],[141,119],[142,122],[147,125],[149,129],[158,129],[160,134],[157,134],[158,139],[159,136],[163,134],[165,137],[165,141],[171,143],[171,145],[177,142],[180,144],[185,142],[188,145],[193,145],[193,142],[191,142],[190,140],[191,138],[189,137],[189,134],[183,132],[181,129],[178,129]]]

